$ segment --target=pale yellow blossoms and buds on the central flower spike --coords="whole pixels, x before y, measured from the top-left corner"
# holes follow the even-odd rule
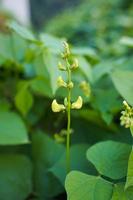
[[[57,79],[57,85],[58,85],[58,87],[64,87],[68,90],[71,90],[74,87],[74,83],[71,81],[71,72],[73,70],[77,69],[79,64],[78,64],[77,59],[73,59],[72,61],[70,61],[71,52],[70,52],[68,43],[64,42],[63,45],[64,45],[64,52],[61,54],[61,57],[65,61],[65,65],[62,64],[61,62],[59,62],[58,68],[61,71],[67,72],[68,81],[65,82],[63,80],[62,76],[59,76]],[[82,107],[82,104],[83,104],[82,97],[79,96],[74,103],[71,103],[71,109],[80,109]],[[64,99],[64,104],[59,104],[59,103],[57,103],[56,99],[54,99],[52,102],[52,111],[53,112],[61,112],[61,111],[67,110],[67,106],[68,106],[68,98],[67,97],[65,97],[65,99]]]

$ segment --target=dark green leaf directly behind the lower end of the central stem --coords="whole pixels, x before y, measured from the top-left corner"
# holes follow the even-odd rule
[[[96,170],[93,168],[91,163],[87,162],[85,158],[87,149],[88,144],[77,144],[71,147],[71,170],[81,170],[82,172],[96,174]],[[49,171],[60,180],[62,185],[64,185],[66,177],[66,152],[62,155],[60,160],[58,160],[55,165],[49,169]]]

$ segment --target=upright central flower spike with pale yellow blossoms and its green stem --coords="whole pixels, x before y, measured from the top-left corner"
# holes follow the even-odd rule
[[[52,102],[53,112],[65,111],[67,112],[67,132],[66,132],[66,172],[68,173],[71,169],[70,166],[70,134],[71,134],[71,109],[80,109],[82,107],[82,97],[79,96],[78,99],[71,103],[71,92],[74,87],[74,83],[71,80],[71,73],[73,70],[78,68],[78,60],[71,59],[71,52],[67,42],[64,42],[64,52],[61,54],[62,59],[65,61],[63,65],[59,62],[59,70],[67,73],[67,82],[65,82],[62,76],[57,79],[57,84],[59,87],[65,87],[67,89],[67,97],[64,99],[64,104],[58,104],[56,100]]]

